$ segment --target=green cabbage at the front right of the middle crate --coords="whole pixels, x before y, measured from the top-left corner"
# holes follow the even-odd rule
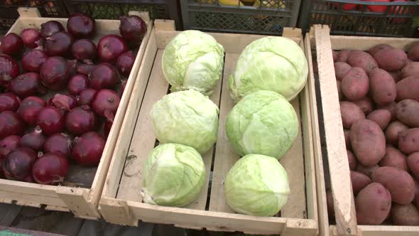
[[[224,191],[236,213],[273,216],[287,203],[290,186],[287,172],[277,159],[249,154],[229,170]]]

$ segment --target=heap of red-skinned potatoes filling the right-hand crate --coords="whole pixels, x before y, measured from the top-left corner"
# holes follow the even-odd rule
[[[418,52],[333,52],[359,225],[419,225]]]

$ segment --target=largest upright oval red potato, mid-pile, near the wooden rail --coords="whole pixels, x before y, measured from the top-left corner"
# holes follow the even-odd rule
[[[350,136],[352,150],[363,166],[376,165],[386,154],[386,136],[376,122],[369,119],[354,122]]]

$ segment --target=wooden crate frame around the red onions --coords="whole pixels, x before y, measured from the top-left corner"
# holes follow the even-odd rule
[[[46,21],[55,20],[67,25],[67,18],[41,18],[37,9],[20,8],[18,9],[21,15],[16,23],[13,24],[9,33],[20,34],[23,28],[40,28],[40,24]],[[92,177],[93,181],[89,188],[80,187],[77,183],[69,183],[68,186],[44,186],[38,183],[26,183],[20,181],[10,181],[0,179],[0,202],[15,203],[18,205],[28,205],[33,207],[45,207],[48,210],[71,211],[77,217],[97,219],[100,217],[97,205],[102,194],[104,185],[104,178],[107,174],[109,163],[114,156],[114,146],[118,138],[119,130],[121,129],[122,121],[129,103],[130,95],[134,85],[136,84],[136,75],[140,68],[141,59],[143,58],[144,50],[153,27],[152,21],[148,18],[148,14],[135,13],[143,18],[148,24],[148,32],[143,38],[138,53],[136,55],[136,62],[129,75],[129,80],[124,90],[124,96],[121,98],[118,112],[116,112],[114,124],[107,143],[104,147],[102,159],[97,167],[97,170],[86,172],[86,176]],[[97,43],[102,36],[109,33],[119,34],[119,21],[116,20],[96,20],[97,36],[93,41]],[[71,169],[70,169],[71,171]],[[82,170],[78,170],[82,171]],[[70,178],[70,176],[69,176]]]

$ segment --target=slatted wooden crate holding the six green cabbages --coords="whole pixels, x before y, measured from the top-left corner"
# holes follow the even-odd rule
[[[155,21],[155,28],[151,31],[138,73],[138,83],[132,92],[120,137],[116,142],[114,154],[121,158],[111,161],[99,203],[99,211],[104,219],[123,225],[136,225],[138,220],[143,220],[213,231],[317,235],[319,227],[315,160],[319,156],[317,153],[320,145],[318,132],[314,132],[315,128],[317,129],[317,119],[313,119],[313,116],[317,116],[317,109],[312,108],[315,106],[315,92],[311,78],[305,89],[291,102],[301,122],[298,138],[288,154],[281,159],[288,171],[291,188],[288,203],[281,210],[281,217],[236,214],[224,199],[224,178],[234,162],[239,159],[229,145],[224,131],[227,114],[234,106],[227,89],[227,78],[233,72],[236,60],[244,47],[263,36],[210,33],[224,46],[226,54],[223,79],[217,82],[210,97],[219,106],[220,113],[217,144],[212,151],[203,156],[207,168],[205,187],[197,200],[185,208],[142,203],[141,169],[156,143],[148,112],[155,102],[168,93],[169,85],[163,77],[161,58],[165,46],[178,33],[173,21]],[[285,28],[284,36],[305,48],[299,29]],[[209,183],[211,172],[212,181]]]

